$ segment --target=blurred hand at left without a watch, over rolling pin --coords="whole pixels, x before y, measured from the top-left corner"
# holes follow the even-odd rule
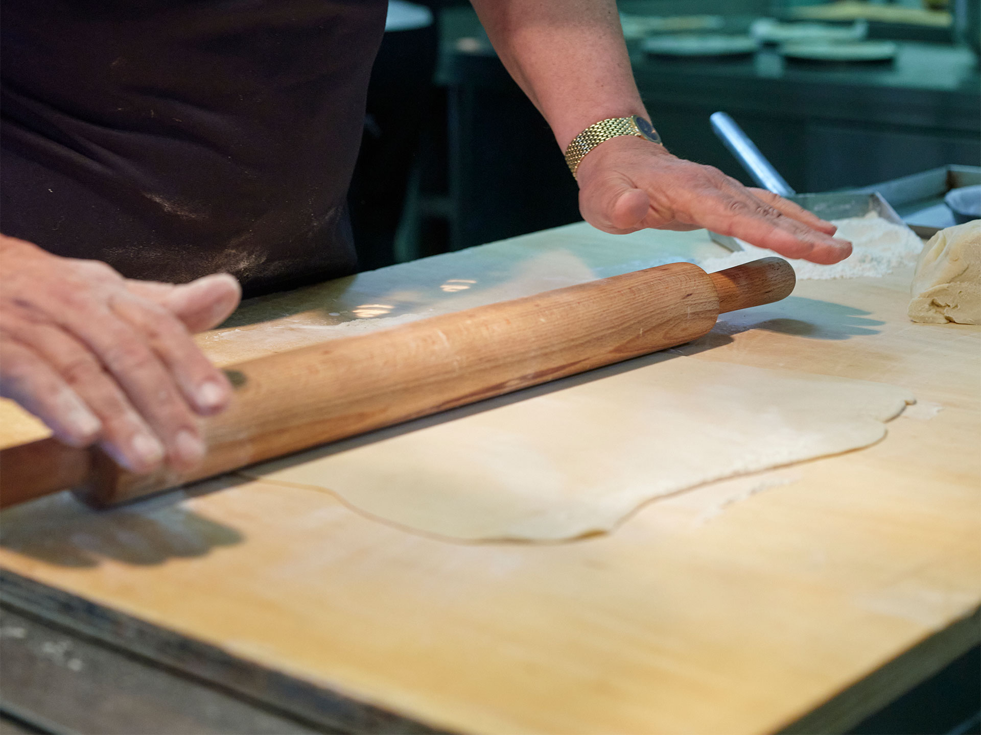
[[[98,443],[145,473],[204,456],[197,416],[232,388],[190,334],[240,298],[228,274],[184,285],[128,280],[104,263],[60,258],[0,235],[0,395],[66,444]]]

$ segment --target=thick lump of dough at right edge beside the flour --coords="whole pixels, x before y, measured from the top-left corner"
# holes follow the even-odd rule
[[[935,234],[920,253],[909,319],[981,323],[981,220]]]

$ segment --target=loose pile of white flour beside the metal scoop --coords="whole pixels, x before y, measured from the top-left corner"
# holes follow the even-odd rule
[[[788,259],[799,280],[885,275],[901,266],[915,265],[923,249],[923,241],[911,229],[883,220],[874,212],[864,217],[832,220],[832,223],[838,226],[835,237],[852,243],[852,255],[833,266]],[[711,258],[698,265],[708,272],[715,272],[774,255],[771,250],[754,247],[742,240],[739,242],[743,246],[742,252]]]

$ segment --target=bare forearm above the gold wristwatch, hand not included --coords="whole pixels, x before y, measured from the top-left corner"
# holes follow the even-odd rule
[[[605,118],[647,117],[614,0],[472,0],[507,71],[564,150]]]

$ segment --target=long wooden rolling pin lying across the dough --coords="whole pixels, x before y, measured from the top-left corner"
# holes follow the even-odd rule
[[[708,275],[689,263],[336,339],[227,369],[232,406],[202,420],[200,466],[134,475],[98,449],[43,439],[0,452],[0,507],[72,488],[95,506],[689,342],[719,314],[794,290],[765,258]]]

